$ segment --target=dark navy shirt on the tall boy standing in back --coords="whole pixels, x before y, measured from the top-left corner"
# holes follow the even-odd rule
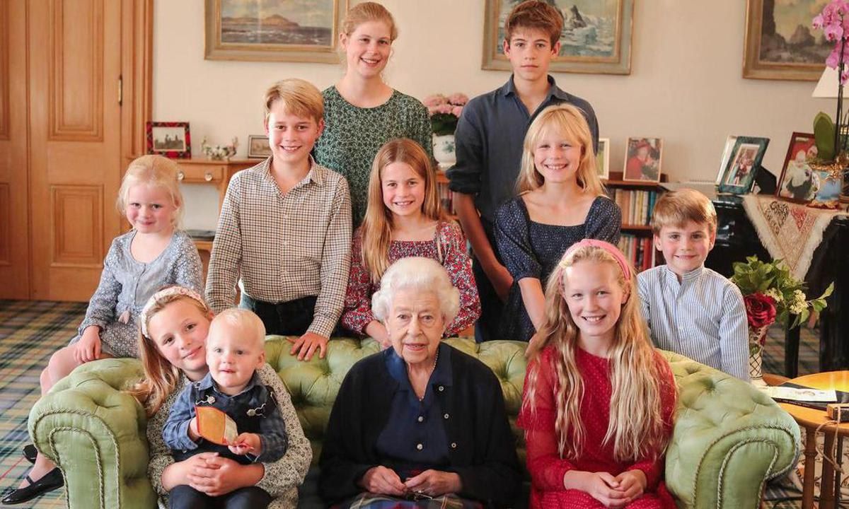
[[[503,87],[469,101],[458,120],[454,132],[457,164],[446,173],[448,188],[475,196],[475,207],[489,230],[498,205],[515,196],[522,143],[540,111],[559,103],[582,109],[593,135],[593,150],[599,149],[599,124],[590,103],[560,90],[551,76],[548,83],[548,96],[533,115],[519,98],[510,76]]]

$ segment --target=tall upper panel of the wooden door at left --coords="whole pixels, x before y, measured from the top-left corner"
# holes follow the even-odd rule
[[[79,12],[86,3],[91,11],[87,23],[66,25],[65,9],[72,8]],[[65,3],[65,0],[53,0],[50,2],[48,83],[51,101],[48,106],[48,123],[51,140],[77,142],[103,140],[103,16],[104,0],[87,0],[87,2],[75,0],[70,3]],[[86,36],[76,37],[76,40],[71,41],[70,36],[80,31]],[[82,59],[80,55],[83,55]],[[88,87],[75,100],[66,101],[65,94],[71,91],[65,87],[65,72],[70,64],[73,64],[74,72],[88,76]],[[75,80],[75,82],[79,81],[81,80]],[[72,115],[70,111],[70,108],[79,107],[80,104],[88,108],[82,118],[79,112]]]

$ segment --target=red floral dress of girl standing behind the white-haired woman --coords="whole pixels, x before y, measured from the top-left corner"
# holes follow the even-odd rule
[[[453,221],[439,221],[431,240],[401,241],[389,244],[389,263],[408,256],[424,256],[445,267],[451,282],[460,292],[460,309],[451,322],[446,336],[456,336],[472,326],[481,316],[481,299],[478,298],[472,263],[466,252],[466,238]],[[380,283],[371,280],[363,265],[363,229],[357,228],[351,245],[351,278],[345,295],[345,310],[340,322],[354,333],[364,334],[369,322],[377,320],[371,310],[371,297],[380,289]]]

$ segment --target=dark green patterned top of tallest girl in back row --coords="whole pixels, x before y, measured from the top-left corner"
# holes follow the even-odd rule
[[[374,108],[358,108],[342,98],[336,87],[322,92],[324,131],[313,155],[319,165],[338,171],[351,188],[353,228],[366,215],[368,175],[380,147],[395,138],[419,143],[433,159],[433,136],[427,108],[419,99],[397,90]]]

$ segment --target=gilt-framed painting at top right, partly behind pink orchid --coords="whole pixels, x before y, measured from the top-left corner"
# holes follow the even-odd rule
[[[743,77],[817,81],[834,48],[811,20],[829,0],[746,0]]]

